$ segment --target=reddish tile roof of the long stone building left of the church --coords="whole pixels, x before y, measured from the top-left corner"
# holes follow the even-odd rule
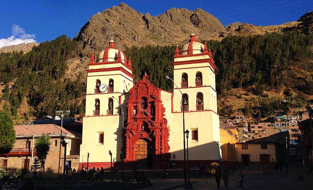
[[[26,127],[28,129],[26,129]],[[42,134],[50,133],[50,135],[60,135],[61,127],[54,124],[42,124],[42,125],[15,125],[14,126],[16,136],[32,136],[33,133],[35,136],[40,136]],[[33,131],[33,133],[31,132]],[[81,137],[80,133],[70,131],[67,129],[62,129],[62,135],[71,135],[75,137]]]

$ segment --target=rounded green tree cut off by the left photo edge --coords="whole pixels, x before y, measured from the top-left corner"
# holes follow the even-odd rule
[[[0,153],[11,151],[15,143],[15,130],[12,116],[7,111],[0,111]]]

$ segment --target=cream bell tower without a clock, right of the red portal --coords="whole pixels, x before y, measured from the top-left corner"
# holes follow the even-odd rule
[[[191,132],[188,139],[189,148],[195,151],[194,154],[189,153],[189,157],[195,156],[191,159],[218,160],[218,151],[203,152],[212,148],[219,149],[219,117],[214,72],[216,66],[207,44],[199,43],[195,34],[191,34],[190,37],[189,43],[185,44],[180,51],[177,46],[172,62],[173,80],[182,92],[180,93],[174,86],[172,99],[173,118],[176,120],[174,123],[182,123],[182,111],[184,111],[185,130]],[[173,132],[173,129],[171,130]],[[170,146],[173,149],[171,144]],[[199,153],[196,153],[197,150],[202,151],[203,155],[200,153],[199,156]]]

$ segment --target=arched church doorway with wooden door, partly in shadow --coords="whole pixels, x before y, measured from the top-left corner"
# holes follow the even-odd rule
[[[153,148],[150,141],[139,139],[135,145],[135,162],[137,168],[153,166]]]

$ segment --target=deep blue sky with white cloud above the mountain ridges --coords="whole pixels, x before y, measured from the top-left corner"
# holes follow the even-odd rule
[[[0,0],[0,47],[23,42],[43,42],[66,34],[74,38],[80,28],[97,12],[122,1],[6,1]],[[296,21],[313,11],[312,0],[211,0],[211,1],[123,1],[151,16],[172,7],[194,10],[202,8],[226,26],[241,22],[253,25],[276,25]]]

